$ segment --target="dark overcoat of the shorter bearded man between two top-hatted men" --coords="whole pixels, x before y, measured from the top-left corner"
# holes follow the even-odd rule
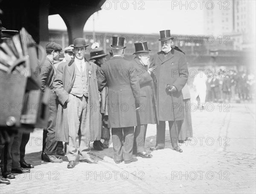
[[[154,82],[147,68],[140,63],[138,58],[131,61],[137,71],[137,77],[140,83],[140,104],[141,108],[137,113],[137,124],[155,124],[157,123],[157,99],[154,89]]]

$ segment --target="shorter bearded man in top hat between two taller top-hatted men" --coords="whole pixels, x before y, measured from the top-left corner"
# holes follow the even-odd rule
[[[140,83],[140,103],[142,107],[137,113],[137,126],[134,131],[134,148],[133,154],[143,157],[151,158],[152,154],[145,150],[145,137],[148,124],[155,124],[157,122],[156,114],[156,95],[154,89],[154,82],[151,77],[152,69],[148,69],[149,53],[147,42],[134,43],[136,57],[131,62],[137,71],[137,77]]]

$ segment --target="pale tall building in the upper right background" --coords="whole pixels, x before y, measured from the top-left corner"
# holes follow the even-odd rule
[[[204,32],[205,35],[222,39],[222,44],[215,47],[230,48],[227,43],[232,43],[230,46],[234,50],[253,48],[256,34],[255,1],[225,0],[214,3],[213,9],[204,10]]]

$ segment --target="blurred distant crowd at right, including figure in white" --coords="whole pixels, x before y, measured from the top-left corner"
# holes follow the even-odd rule
[[[212,70],[212,69],[209,69]],[[190,84],[192,102],[199,103],[204,108],[209,103],[231,103],[255,100],[255,75],[247,71],[226,69],[212,74],[201,71]]]

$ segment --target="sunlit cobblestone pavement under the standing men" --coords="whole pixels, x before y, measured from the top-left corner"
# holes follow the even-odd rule
[[[212,111],[211,111],[212,110]],[[209,104],[192,112],[193,135],[181,145],[183,153],[166,148],[153,158],[116,164],[113,148],[91,150],[99,164],[41,161],[41,130],[35,130],[26,147],[26,161],[35,165],[29,174],[16,174],[0,193],[255,193],[255,104]],[[168,129],[168,125],[166,126]],[[156,126],[149,125],[146,148],[155,145]]]

